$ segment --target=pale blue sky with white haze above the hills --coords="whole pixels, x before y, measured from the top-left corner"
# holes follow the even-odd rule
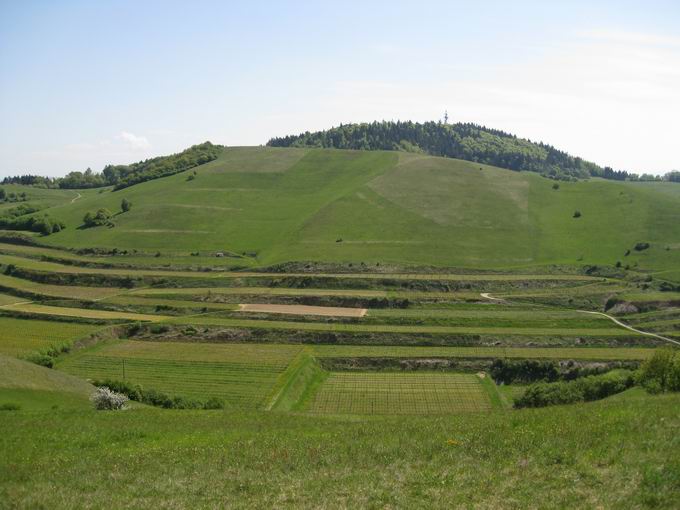
[[[680,169],[680,1],[0,0],[0,176],[445,110]]]

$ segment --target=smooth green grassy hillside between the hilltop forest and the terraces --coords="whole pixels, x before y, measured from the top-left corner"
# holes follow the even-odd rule
[[[560,183],[464,161],[393,152],[227,149],[185,174],[88,193],[52,214],[62,246],[257,253],[287,260],[467,267],[608,263],[668,271],[680,264],[680,186]],[[131,212],[113,229],[77,230],[89,210]],[[580,210],[582,217],[572,214]],[[343,242],[336,242],[339,238]],[[636,242],[652,247],[624,257]],[[666,247],[669,249],[666,250]]]

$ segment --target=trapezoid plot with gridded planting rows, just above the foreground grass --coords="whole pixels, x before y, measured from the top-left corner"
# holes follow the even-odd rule
[[[319,414],[455,414],[488,411],[476,375],[331,373],[310,403]]]

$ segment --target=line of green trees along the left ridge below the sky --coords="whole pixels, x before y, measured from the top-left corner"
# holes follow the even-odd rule
[[[20,175],[5,177],[2,184],[23,184],[40,188],[83,189],[113,186],[119,190],[140,182],[173,175],[208,163],[220,155],[223,146],[204,142],[170,156],[151,158],[130,165],[107,165],[101,172],[88,168],[64,177]]]

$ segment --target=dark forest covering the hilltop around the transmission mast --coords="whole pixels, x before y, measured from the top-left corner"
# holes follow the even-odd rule
[[[442,122],[372,122],[346,124],[326,131],[272,138],[272,147],[325,147],[358,150],[402,150],[465,159],[510,170],[538,172],[553,179],[603,177],[615,180],[662,180],[600,167],[551,145],[477,124]],[[666,174],[680,181],[680,172]]]

